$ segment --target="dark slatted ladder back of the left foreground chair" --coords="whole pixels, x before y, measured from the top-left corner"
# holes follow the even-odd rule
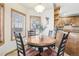
[[[20,54],[22,54],[23,56],[25,56],[25,49],[24,49],[24,43],[22,40],[22,36],[21,33],[15,33],[15,39],[16,39],[16,44],[17,44],[17,52],[18,52],[18,56],[20,56]]]

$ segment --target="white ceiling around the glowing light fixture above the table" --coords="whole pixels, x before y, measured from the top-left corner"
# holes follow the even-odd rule
[[[21,3],[22,6],[28,9],[34,9],[35,6],[39,5],[40,3]],[[45,6],[46,9],[53,8],[53,3],[41,3],[41,5]]]

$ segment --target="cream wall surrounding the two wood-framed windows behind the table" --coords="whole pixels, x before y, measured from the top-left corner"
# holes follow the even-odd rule
[[[44,13],[42,14],[38,14],[36,13],[34,10],[31,9],[27,9],[23,6],[21,6],[20,4],[16,4],[16,3],[6,3],[5,4],[5,17],[4,17],[4,39],[5,39],[5,43],[11,41],[11,8],[20,11],[24,14],[26,14],[26,37],[27,37],[27,31],[30,28],[30,15],[34,15],[34,16],[41,16],[41,20],[42,20],[42,24],[45,25],[46,21],[45,21],[45,17],[49,17],[50,18],[50,23],[48,25],[48,29],[53,29],[54,28],[54,11],[53,8],[50,10],[46,10],[44,11]],[[47,33],[47,30],[44,32]]]

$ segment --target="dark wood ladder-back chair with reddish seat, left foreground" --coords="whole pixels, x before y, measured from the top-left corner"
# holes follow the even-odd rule
[[[24,43],[22,40],[22,36],[20,33],[15,33],[15,39],[16,39],[16,44],[17,44],[17,53],[18,56],[36,56],[39,54],[38,51],[35,49],[28,47],[27,49],[24,48]]]

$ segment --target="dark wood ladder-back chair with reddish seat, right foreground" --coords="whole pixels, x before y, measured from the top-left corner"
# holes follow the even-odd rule
[[[47,50],[43,51],[41,53],[42,56],[64,56],[64,50],[65,50],[65,45],[68,39],[68,34],[63,34],[61,43],[58,48],[58,52],[56,52],[53,48],[49,47]]]

